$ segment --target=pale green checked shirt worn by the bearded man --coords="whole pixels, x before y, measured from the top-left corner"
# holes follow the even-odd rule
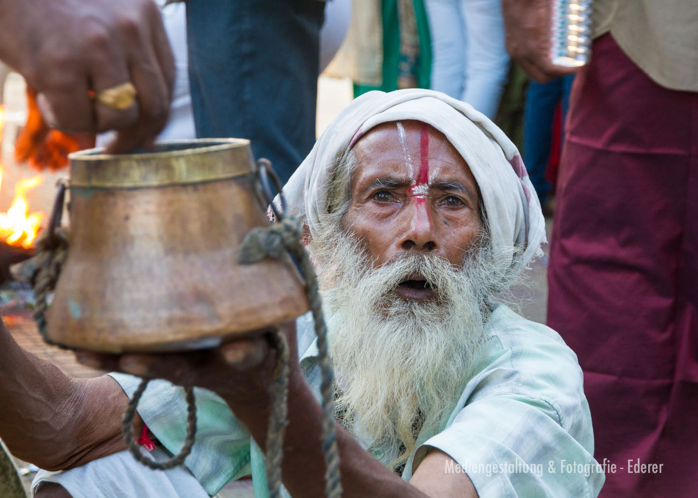
[[[591,415],[577,356],[547,326],[500,305],[488,322],[484,360],[443,428],[419,434],[403,479],[409,480],[429,448],[439,448],[465,471],[480,498],[595,497],[604,482],[593,458]],[[297,319],[298,351],[308,384],[319,399],[320,373],[310,315]],[[132,395],[140,380],[110,374]],[[196,443],[186,466],[209,495],[252,474],[255,497],[268,495],[264,455],[215,393],[197,388]],[[150,382],[138,405],[148,428],[172,453],[184,442],[184,391]],[[374,450],[387,463],[397,448]]]

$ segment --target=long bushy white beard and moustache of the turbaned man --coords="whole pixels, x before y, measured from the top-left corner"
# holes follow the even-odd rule
[[[454,269],[416,252],[380,268],[350,236],[334,232],[311,243],[329,320],[329,352],[336,376],[336,412],[343,425],[373,440],[372,447],[415,450],[419,430],[436,432],[480,358],[489,312],[483,303],[501,273],[483,238]],[[436,292],[407,301],[394,289],[420,273]]]

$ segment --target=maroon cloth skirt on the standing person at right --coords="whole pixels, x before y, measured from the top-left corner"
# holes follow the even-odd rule
[[[695,497],[698,93],[659,86],[610,35],[592,50],[570,98],[548,324],[584,370],[600,496]]]

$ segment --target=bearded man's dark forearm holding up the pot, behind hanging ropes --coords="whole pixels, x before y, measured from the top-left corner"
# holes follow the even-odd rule
[[[225,396],[224,396],[225,398]],[[232,401],[232,400],[231,400]],[[235,400],[239,401],[239,400]],[[230,403],[230,401],[229,401]],[[235,414],[260,447],[266,447],[268,405],[237,404]],[[283,484],[292,496],[325,496],[322,412],[299,369],[292,369],[288,392],[288,426],[283,442]],[[365,451],[335,423],[341,482],[345,497],[425,497]]]

